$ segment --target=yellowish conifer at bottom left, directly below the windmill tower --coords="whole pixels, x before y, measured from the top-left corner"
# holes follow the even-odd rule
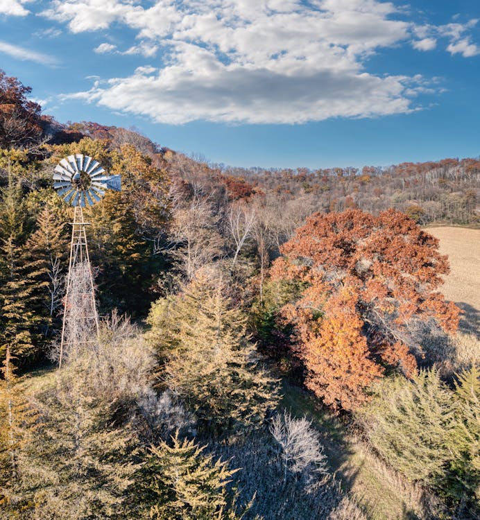
[[[35,519],[118,518],[126,510],[123,502],[137,469],[132,435],[110,424],[87,378],[71,361],[40,396],[44,483],[35,494]]]

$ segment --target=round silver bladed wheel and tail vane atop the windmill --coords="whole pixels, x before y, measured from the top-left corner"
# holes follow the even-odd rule
[[[53,180],[58,195],[72,206],[91,206],[106,189],[121,191],[120,175],[108,175],[98,161],[81,153],[62,159],[55,166]]]

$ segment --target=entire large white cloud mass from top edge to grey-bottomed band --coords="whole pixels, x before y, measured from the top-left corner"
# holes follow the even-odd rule
[[[365,117],[414,110],[411,99],[431,92],[425,80],[375,76],[366,57],[408,42],[434,49],[438,37],[460,48],[468,24],[416,26],[393,2],[378,0],[53,0],[44,16],[70,31],[133,29],[126,51],[162,67],[137,69],[76,96],[164,123],[196,119],[302,123],[329,117]],[[469,22],[470,24],[470,22]],[[468,43],[469,45],[472,45]],[[108,47],[106,47],[108,46]],[[458,50],[456,50],[458,48]]]

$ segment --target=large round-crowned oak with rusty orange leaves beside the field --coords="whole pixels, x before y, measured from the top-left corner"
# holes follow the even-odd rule
[[[438,286],[449,272],[438,241],[400,211],[316,213],[281,248],[274,279],[306,284],[282,309],[295,325],[305,384],[335,410],[352,410],[386,367],[411,376],[422,356],[415,322],[458,327]]]

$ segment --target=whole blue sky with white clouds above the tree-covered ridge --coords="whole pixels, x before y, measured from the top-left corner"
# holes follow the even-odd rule
[[[477,157],[479,19],[479,0],[0,0],[0,68],[60,122],[216,163]]]

